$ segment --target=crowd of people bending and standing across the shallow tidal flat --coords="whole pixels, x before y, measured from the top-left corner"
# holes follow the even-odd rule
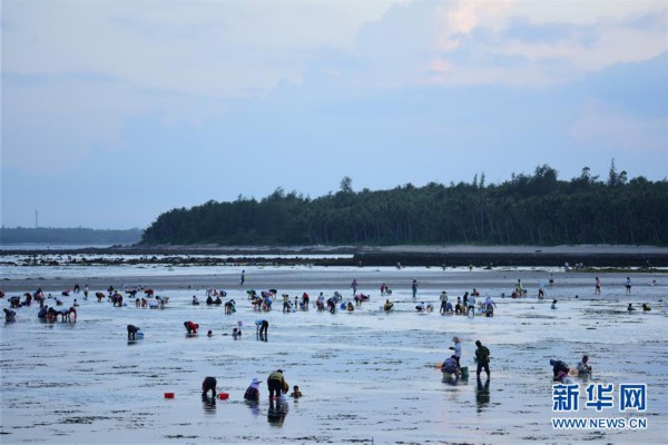
[[[243,286],[245,283],[245,271],[240,277],[240,285]],[[549,286],[553,286],[554,278],[553,275],[550,276]],[[539,298],[544,297],[544,287],[541,286],[539,289]],[[345,301],[342,294],[338,291],[334,291],[332,296],[327,297],[324,293],[320,293],[317,298],[313,301],[313,307],[317,312],[328,310],[331,313],[335,313],[337,309],[345,310],[348,313],[353,313],[356,307],[360,307],[363,303],[370,301],[371,296],[357,293],[358,283],[354,279],[351,284],[351,288],[353,290],[352,299]],[[418,297],[418,288],[419,284],[416,279],[412,279],[410,284],[411,296],[415,300]],[[595,289],[593,295],[601,295],[602,281],[599,277],[595,279]],[[627,278],[625,283],[625,288],[627,295],[630,295],[631,291],[631,281],[630,278]],[[32,304],[39,304],[40,310],[38,313],[38,317],[40,319],[47,322],[58,320],[60,317],[61,322],[76,322],[77,320],[77,298],[73,299],[71,306],[65,307],[65,303],[62,297],[77,296],[79,293],[84,293],[84,300],[87,300],[90,294],[89,286],[86,285],[84,289],[79,285],[75,285],[72,289],[66,289],[61,293],[60,296],[53,297],[51,294],[45,296],[45,293],[41,288],[38,288],[36,293],[23,294],[23,298],[19,296],[13,296],[8,299],[10,308],[4,308],[4,319],[6,323],[13,323],[17,319],[17,312],[14,309],[21,308],[24,306],[31,306]],[[168,297],[160,297],[154,295],[155,291],[153,289],[137,287],[137,288],[124,288],[124,291],[114,288],[110,286],[107,289],[107,293],[95,293],[98,301],[102,301],[105,298],[107,301],[112,303],[115,307],[124,307],[127,306],[127,303],[124,304],[124,293],[126,294],[126,298],[129,296],[135,299],[136,307],[150,307],[150,308],[165,308],[165,305],[169,301]],[[144,293],[144,297],[138,297],[138,293]],[[392,295],[392,290],[389,286],[383,283],[380,286],[380,293],[382,297],[390,297]],[[520,279],[518,279],[514,289],[512,291],[512,297],[525,297],[528,290],[524,288],[523,284]],[[256,290],[248,289],[246,290],[246,295],[250,305],[255,312],[268,312],[272,310],[273,303],[278,299],[278,291],[276,289],[267,289],[257,293]],[[2,293],[2,297],[4,294]],[[421,295],[422,296],[422,295]],[[214,298],[215,297],[215,298]],[[207,290],[206,296],[206,305],[225,305],[225,314],[233,314],[236,312],[234,299],[229,299],[227,301],[223,301],[223,298],[227,297],[227,293],[224,290],[217,290],[215,288],[210,288]],[[297,310],[305,312],[310,309],[311,297],[304,291],[301,296],[295,296],[294,300],[287,294],[282,295],[282,308],[283,313],[289,314],[295,313]],[[47,303],[51,303],[51,307]],[[494,315],[494,310],[497,309],[497,303],[493,300],[491,296],[487,296],[484,299],[481,297],[480,291],[477,288],[473,288],[470,293],[465,291],[463,296],[458,296],[456,300],[451,300],[450,295],[446,290],[442,290],[438,297],[440,301],[439,313],[441,315],[465,315],[469,317],[474,317],[475,315],[483,315],[487,317],[492,317]],[[294,301],[294,303],[293,303]],[[355,304],[353,305],[353,301]],[[191,305],[198,306],[199,298],[196,295],[193,295]],[[53,306],[63,306],[61,309],[56,309]],[[557,299],[553,299],[552,309],[557,309]],[[389,313],[395,309],[394,303],[390,300],[390,298],[385,299],[381,309]],[[434,305],[431,303],[420,301],[415,306],[415,310],[419,313],[430,313],[434,309]],[[636,310],[632,306],[632,303],[628,304],[628,312]],[[651,308],[648,304],[642,305],[644,312],[649,312]],[[259,339],[266,340],[269,323],[267,319],[258,318],[255,320],[256,326],[256,336]],[[184,327],[186,329],[187,335],[196,336],[199,330],[199,324],[193,320],[184,322]],[[234,339],[240,339],[242,337],[242,322],[238,322],[238,327],[235,327],[232,333]],[[213,336],[213,330],[208,330],[207,336]],[[128,340],[136,340],[137,338],[143,337],[141,329],[138,326],[132,324],[127,325],[127,337]],[[462,366],[462,339],[458,336],[452,338],[452,346],[449,349],[452,352],[441,363],[441,372],[445,378],[468,378],[468,367]],[[475,340],[475,350],[474,350],[474,363],[477,364],[475,376],[477,379],[481,379],[482,372],[485,373],[487,378],[490,378],[490,349],[482,345],[481,340]],[[577,364],[574,368],[571,368],[566,362],[561,359],[552,358],[550,359],[550,366],[552,367],[552,378],[556,383],[569,383],[570,378],[573,375],[578,376],[591,376],[592,366],[589,364],[588,355],[583,355],[581,360]],[[272,403],[276,403],[279,405],[284,400],[284,395],[288,393],[289,386],[285,380],[282,369],[277,369],[273,372],[267,378],[267,389],[268,397]],[[247,387],[244,398],[246,400],[259,400],[259,385],[262,382],[257,378],[254,378],[250,385]],[[212,393],[212,397],[216,397],[216,385],[217,380],[215,377],[206,377],[203,382],[203,397],[208,397],[208,393]],[[302,393],[298,386],[293,387],[293,392],[291,394],[292,397],[299,398]]]

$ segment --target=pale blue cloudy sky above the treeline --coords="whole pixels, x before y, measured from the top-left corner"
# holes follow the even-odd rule
[[[1,0],[4,227],[668,176],[666,1]]]

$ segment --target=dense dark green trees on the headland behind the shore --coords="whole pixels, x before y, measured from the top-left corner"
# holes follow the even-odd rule
[[[282,188],[257,201],[208,201],[163,214],[144,244],[395,245],[395,244],[650,244],[668,245],[668,181],[628,180],[610,167],[607,181],[583,168],[563,181],[544,165],[500,185],[424,187],[316,199]]]

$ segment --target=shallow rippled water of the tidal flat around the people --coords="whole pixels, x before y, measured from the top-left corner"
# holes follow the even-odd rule
[[[24,269],[3,269],[7,287],[16,290],[8,295],[33,291],[37,285],[58,295],[75,283],[102,290],[102,283],[117,274],[117,287],[144,284],[169,296],[170,303],[165,310],[114,308],[95,298],[85,301],[79,294],[65,297],[66,305],[73,298],[81,303],[77,323],[55,324],[38,322],[36,306],[16,309],[17,323],[0,329],[1,443],[661,444],[668,438],[665,275],[633,274],[633,295],[628,297],[626,276],[600,274],[603,295],[595,299],[593,276],[554,269],[556,286],[547,289],[546,300],[538,300],[500,296],[509,294],[518,278],[536,295],[549,278],[548,269],[246,266],[245,288],[237,283],[240,268],[158,270],[41,267],[46,278],[28,280]],[[312,303],[320,291],[331,295],[338,289],[350,297],[352,278],[360,283],[358,290],[372,295],[353,314],[317,313],[313,307],[283,314],[276,301],[274,310],[261,315],[245,297],[250,287],[277,288],[292,299],[306,290]],[[434,304],[435,313],[415,313],[412,278],[420,283],[416,300]],[[657,286],[649,285],[652,279]],[[379,310],[385,299],[377,290],[381,283],[394,290],[389,298],[396,310],[390,314]],[[193,295],[204,301],[209,286],[225,288],[226,299],[237,301],[237,312],[224,315],[223,307],[189,304]],[[494,296],[494,317],[438,314],[441,290],[453,299],[473,287]],[[556,310],[550,309],[552,298],[559,299]],[[628,314],[629,301],[648,301],[654,309]],[[255,336],[254,320],[259,317],[269,322],[267,342]],[[183,322],[188,319],[199,323],[197,337],[185,335]],[[244,334],[234,340],[226,334],[238,322]],[[128,323],[140,326],[145,339],[128,342]],[[214,337],[207,338],[208,329]],[[444,382],[434,366],[449,353],[454,335],[462,338],[462,365],[471,372],[468,382]],[[488,386],[484,377],[481,385],[474,377],[477,339],[492,353]],[[591,357],[592,382],[646,383],[648,411],[626,414],[615,407],[597,414],[581,408],[570,416],[644,416],[647,429],[552,429],[549,359],[574,366],[582,354]],[[283,418],[268,417],[265,383],[258,406],[243,400],[253,377],[264,382],[276,368],[304,393],[299,400],[288,398]],[[200,384],[207,375],[218,379],[218,392],[229,393],[228,400],[203,403]],[[165,399],[166,392],[175,398]]]

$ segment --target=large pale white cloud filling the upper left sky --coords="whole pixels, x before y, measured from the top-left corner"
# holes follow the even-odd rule
[[[3,168],[56,175],[122,150],[141,116],[200,125],[229,99],[299,82],[317,49],[352,48],[390,4],[6,2]]]

